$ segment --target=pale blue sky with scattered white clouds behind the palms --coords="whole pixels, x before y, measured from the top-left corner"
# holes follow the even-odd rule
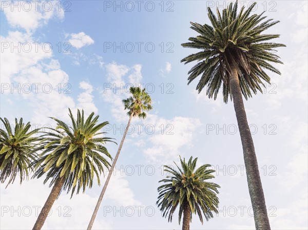
[[[153,110],[134,119],[93,229],[179,229],[156,206],[162,165],[179,155],[217,170],[219,215],[191,229],[254,229],[239,132],[232,103],[187,86],[196,50],[189,22],[209,23],[217,1],[1,1],[1,117],[23,117],[33,127],[68,120],[68,108],[109,121],[120,142],[128,117],[121,100],[132,85],[150,93]],[[240,1],[241,5],[252,2]],[[307,2],[260,1],[254,12],[280,23],[283,43],[272,85],[245,101],[272,229],[307,229]],[[107,144],[112,156],[115,144]],[[102,180],[103,175],[101,176]],[[63,192],[44,229],[85,229],[102,187]],[[51,188],[43,179],[1,185],[1,229],[31,229]],[[178,215],[178,213],[176,213]]]

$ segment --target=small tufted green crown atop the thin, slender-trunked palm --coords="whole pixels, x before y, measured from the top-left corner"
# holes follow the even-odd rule
[[[122,100],[124,103],[124,109],[129,110],[127,115],[130,116],[132,114],[133,117],[138,116],[139,118],[146,118],[145,111],[152,109],[151,97],[148,95],[145,89],[141,90],[140,87],[130,87],[129,91],[132,96]]]

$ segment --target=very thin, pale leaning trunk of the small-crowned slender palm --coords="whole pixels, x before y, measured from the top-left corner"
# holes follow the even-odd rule
[[[93,214],[92,214],[92,217],[91,217],[91,220],[90,220],[90,223],[89,223],[89,225],[88,225],[87,230],[92,229],[92,226],[93,226],[95,217],[96,217],[97,214],[98,214],[99,207],[100,207],[100,204],[101,204],[102,199],[103,199],[103,197],[104,197],[105,191],[106,191],[106,189],[107,189],[107,186],[108,186],[110,177],[111,177],[111,175],[112,175],[112,172],[113,172],[113,169],[114,169],[114,166],[115,166],[115,163],[117,163],[117,160],[118,160],[118,158],[119,158],[119,155],[120,155],[120,152],[121,152],[121,149],[122,149],[122,146],[123,146],[123,143],[124,143],[124,139],[125,139],[125,136],[126,136],[126,134],[127,134],[127,131],[128,131],[129,124],[130,124],[130,121],[131,121],[132,116],[133,116],[133,114],[131,114],[131,115],[129,116],[129,120],[128,120],[128,123],[127,123],[127,127],[126,127],[126,129],[125,129],[124,134],[123,134],[123,137],[122,137],[122,140],[121,140],[121,143],[120,143],[120,146],[119,146],[117,155],[115,155],[115,158],[114,158],[114,160],[113,160],[113,162],[112,162],[112,165],[111,165],[111,168],[110,168],[110,170],[109,170],[109,173],[108,173],[106,182],[105,182],[105,184],[104,184],[104,187],[103,187],[103,190],[102,190],[101,195],[100,195],[100,197],[99,197],[99,200],[98,200],[98,202],[97,202],[97,205],[95,206],[95,209],[94,209],[94,212],[93,212]]]

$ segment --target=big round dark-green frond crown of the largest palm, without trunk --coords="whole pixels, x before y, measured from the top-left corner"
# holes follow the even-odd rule
[[[237,12],[237,2],[230,3],[222,13],[217,8],[217,16],[208,7],[208,17],[211,26],[191,23],[190,28],[200,35],[190,37],[189,43],[183,47],[201,49],[202,51],[188,55],[181,62],[199,61],[188,72],[188,84],[201,75],[196,90],[200,93],[207,86],[206,95],[216,99],[222,86],[223,100],[227,102],[230,95],[229,78],[231,68],[235,67],[240,81],[240,88],[245,99],[252,97],[265,87],[263,80],[270,83],[271,78],[264,69],[281,74],[279,70],[270,65],[268,61],[280,63],[279,56],[274,54],[275,48],[285,47],[283,44],[267,42],[279,37],[278,34],[261,34],[267,28],[274,26],[279,21],[267,19],[261,14],[250,15],[257,3],[252,4],[247,10],[244,7]]]

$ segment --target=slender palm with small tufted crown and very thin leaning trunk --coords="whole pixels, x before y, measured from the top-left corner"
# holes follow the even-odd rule
[[[145,111],[149,111],[149,110],[152,109],[151,97],[148,95],[148,93],[145,91],[145,89],[141,90],[140,87],[130,87],[129,88],[129,92],[131,93],[131,96],[129,98],[127,98],[127,99],[122,100],[122,102],[124,103],[124,109],[125,110],[128,109],[127,115],[129,116],[129,120],[128,120],[126,129],[125,129],[125,132],[123,134],[123,137],[122,137],[122,140],[121,140],[118,152],[115,155],[115,158],[114,158],[114,160],[112,162],[112,165],[111,165],[111,168],[109,170],[109,173],[108,173],[106,182],[104,184],[103,190],[101,192],[101,195],[99,197],[97,205],[94,208],[94,212],[92,214],[91,220],[90,220],[88,228],[87,228],[88,230],[90,230],[92,228],[94,220],[95,220],[95,217],[98,214],[99,207],[100,207],[100,204],[101,204],[102,199],[104,197],[105,191],[107,189],[107,186],[108,186],[111,174],[112,174],[114,166],[115,166],[115,163],[117,163],[117,160],[119,158],[119,155],[120,155],[120,152],[121,152],[121,149],[122,149],[122,146],[123,146],[123,143],[124,143],[124,139],[125,139],[125,136],[127,134],[127,131],[128,131],[131,119],[133,117],[137,117],[137,116],[139,118],[143,118],[144,119],[144,118],[146,118]]]

